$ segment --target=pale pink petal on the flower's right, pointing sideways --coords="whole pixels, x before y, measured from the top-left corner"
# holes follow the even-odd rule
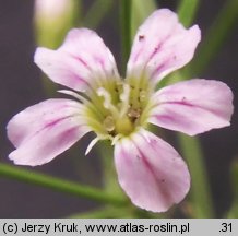
[[[222,82],[194,79],[159,90],[152,101],[148,122],[189,135],[227,127],[233,115],[233,93]]]

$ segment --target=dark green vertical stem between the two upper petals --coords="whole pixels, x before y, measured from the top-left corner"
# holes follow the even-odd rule
[[[122,72],[124,73],[131,48],[131,0],[120,0],[120,28],[122,48]]]

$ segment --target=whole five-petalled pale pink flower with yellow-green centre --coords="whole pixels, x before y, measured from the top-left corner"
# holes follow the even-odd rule
[[[122,80],[102,38],[87,28],[69,32],[57,50],[38,48],[36,64],[60,91],[75,99],[48,99],[26,108],[8,125],[19,165],[41,165],[68,150],[87,132],[115,145],[119,184],[131,201],[163,212],[190,188],[188,167],[168,143],[147,131],[148,123],[189,135],[229,126],[233,94],[218,81],[193,79],[156,91],[168,73],[193,57],[200,42],[197,25],[186,30],[177,15],[155,11],[139,28],[127,76]]]

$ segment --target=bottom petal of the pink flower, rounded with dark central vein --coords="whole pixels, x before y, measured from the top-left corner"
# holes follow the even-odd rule
[[[115,162],[119,184],[142,209],[167,211],[190,188],[190,175],[182,158],[148,131],[121,139],[115,146]]]

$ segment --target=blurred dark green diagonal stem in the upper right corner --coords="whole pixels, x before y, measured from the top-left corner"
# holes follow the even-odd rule
[[[189,71],[194,75],[207,68],[231,30],[237,27],[238,1],[228,0],[225,2],[207,35],[205,35],[197,57],[189,67]]]

